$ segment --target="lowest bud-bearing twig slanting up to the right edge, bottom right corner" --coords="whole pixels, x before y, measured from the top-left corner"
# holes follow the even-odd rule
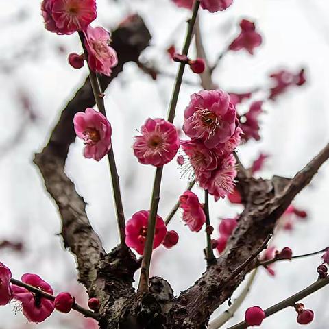
[[[282,300],[282,302],[279,302],[278,304],[275,304],[271,306],[270,308],[267,308],[265,312],[265,317],[269,317],[277,312],[279,310],[283,310],[284,308],[287,308],[289,306],[294,306],[295,303],[302,300],[304,297],[310,295],[311,293],[314,293],[315,291],[318,291],[319,289],[325,287],[327,284],[329,284],[329,276],[327,276],[324,279],[319,279],[310,286],[306,287],[299,293],[295,293],[295,295],[292,295],[291,297],[288,297],[286,300]],[[245,321],[240,322],[239,324],[236,324],[228,329],[244,329],[247,328],[248,325],[245,323]]]

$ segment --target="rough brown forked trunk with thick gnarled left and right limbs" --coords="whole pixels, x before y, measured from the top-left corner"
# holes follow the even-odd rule
[[[103,90],[122,71],[125,62],[138,61],[150,38],[138,16],[113,32],[113,47],[119,53],[119,65],[112,77],[101,80]],[[292,179],[254,179],[240,165],[238,188],[245,210],[223,256],[179,297],[173,297],[170,284],[162,278],[151,278],[149,293],[138,294],[132,288],[134,273],[140,266],[135,256],[121,246],[115,247],[109,254],[104,252],[99,236],[86,216],[84,200],[77,195],[73,183],[64,173],[67,151],[75,138],[73,116],[94,105],[87,79],[62,111],[49,143],[42,153],[36,154],[35,162],[45,179],[47,191],[58,205],[64,244],[77,258],[80,280],[90,297],[98,297],[101,301],[101,329],[206,328],[210,314],[232,295],[245,275],[255,267],[255,262],[241,269],[234,278],[231,273],[273,232],[276,221],[295,195],[328,159],[329,145]]]

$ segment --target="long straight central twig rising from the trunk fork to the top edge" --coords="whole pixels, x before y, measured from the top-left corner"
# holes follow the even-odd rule
[[[193,28],[195,20],[197,19],[197,12],[199,10],[199,0],[195,0],[193,3],[193,14],[191,20],[188,22],[188,30],[186,40],[183,48],[183,54],[188,54],[188,49],[191,45]],[[173,123],[175,118],[175,110],[177,106],[178,96],[180,95],[180,87],[182,86],[182,80],[184,75],[186,63],[180,63],[180,69],[178,70],[175,87],[173,88],[173,95],[169,106],[167,120]],[[156,169],[156,176],[154,179],[153,192],[151,197],[151,209],[149,211],[149,221],[147,226],[147,236],[144,247],[144,254],[141,267],[141,277],[138,284],[138,292],[145,292],[149,289],[149,267],[151,265],[151,257],[153,252],[154,234],[156,228],[156,215],[158,213],[158,204],[160,200],[160,187],[162,178],[162,167]]]

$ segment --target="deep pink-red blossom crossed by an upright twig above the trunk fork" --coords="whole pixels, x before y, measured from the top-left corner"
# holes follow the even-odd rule
[[[140,255],[143,255],[144,252],[148,221],[149,211],[141,210],[132,215],[132,218],[127,221],[127,226],[125,226],[125,243]],[[156,249],[162,243],[166,234],[166,225],[163,219],[157,215],[153,249]]]

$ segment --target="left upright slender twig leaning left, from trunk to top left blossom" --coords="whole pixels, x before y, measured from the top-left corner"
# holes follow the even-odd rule
[[[80,36],[82,47],[84,49],[84,56],[85,58],[88,58],[88,51],[86,49],[86,46],[84,45],[83,32],[79,32],[79,36]],[[105,110],[104,99],[103,99],[104,95],[103,95],[103,91],[101,90],[101,85],[99,83],[99,77],[93,70],[90,69],[90,67],[89,67],[89,72],[90,72],[89,74],[90,84],[91,87],[93,88],[93,93],[95,97],[95,102],[97,104],[97,108],[99,109],[99,112],[101,112],[101,114],[103,114],[104,117],[106,117],[106,110]],[[117,165],[115,164],[113,144],[110,151],[108,151],[108,162],[110,164],[110,174],[112,179],[115,209],[117,212],[117,223],[119,226],[120,242],[121,245],[124,246],[125,245],[125,215],[123,212],[121,191],[119,184],[119,174],[117,171]]]

